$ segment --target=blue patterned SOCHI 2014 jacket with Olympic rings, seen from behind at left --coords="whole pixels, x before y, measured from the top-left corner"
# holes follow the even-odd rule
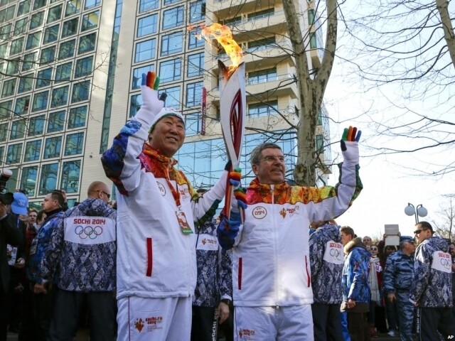
[[[55,218],[41,261],[41,276],[58,274],[66,291],[115,290],[115,221],[117,212],[100,199],[86,199]]]

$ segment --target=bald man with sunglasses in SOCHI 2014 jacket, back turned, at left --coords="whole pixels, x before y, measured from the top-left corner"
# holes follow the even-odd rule
[[[58,276],[50,341],[72,340],[85,302],[92,327],[90,340],[115,340],[117,211],[107,205],[109,198],[109,187],[95,181],[87,189],[86,200],[54,220],[55,229],[41,261],[43,278]]]

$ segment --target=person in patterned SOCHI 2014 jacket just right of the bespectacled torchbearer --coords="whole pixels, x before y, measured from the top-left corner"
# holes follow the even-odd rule
[[[343,341],[340,304],[344,254],[340,227],[333,220],[312,222],[310,227],[316,228],[309,239],[314,340]]]

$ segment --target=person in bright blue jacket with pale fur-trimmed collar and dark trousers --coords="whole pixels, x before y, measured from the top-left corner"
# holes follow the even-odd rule
[[[343,232],[343,227],[341,228]],[[368,310],[370,306],[370,288],[368,287],[368,264],[370,252],[357,237],[344,247],[346,258],[343,266],[343,303],[341,311],[348,313],[348,329],[353,341],[370,340]]]

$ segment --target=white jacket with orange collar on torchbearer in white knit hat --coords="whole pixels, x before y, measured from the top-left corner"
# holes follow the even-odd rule
[[[194,221],[213,216],[225,195],[227,171],[198,198],[183,172],[174,167],[177,161],[144,143],[161,109],[153,110],[153,105],[150,110],[144,102],[102,156],[117,193],[117,299],[193,296]],[[186,220],[193,233],[182,232],[178,212],[183,212],[179,219]]]

